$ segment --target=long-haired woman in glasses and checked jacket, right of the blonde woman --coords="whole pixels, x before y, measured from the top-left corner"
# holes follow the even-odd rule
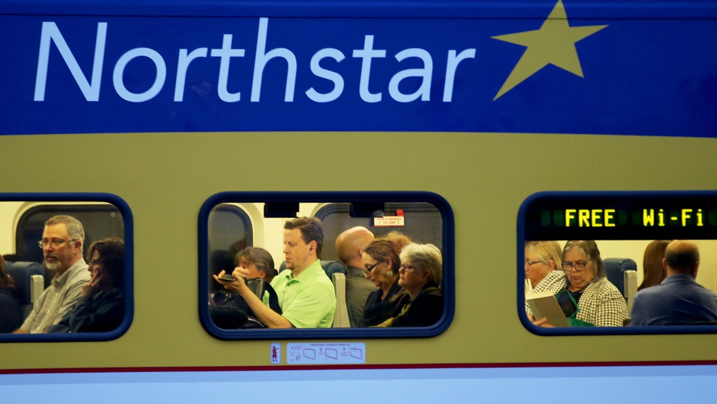
[[[627,304],[617,287],[607,280],[597,244],[571,240],[563,248],[564,289],[556,294],[572,327],[620,327],[627,319]],[[533,324],[550,327],[545,318]]]

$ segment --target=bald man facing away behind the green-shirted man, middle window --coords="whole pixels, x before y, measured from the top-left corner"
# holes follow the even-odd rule
[[[361,254],[374,234],[362,226],[352,227],[336,237],[336,255],[346,265],[346,309],[348,322],[356,327],[364,317],[364,306],[376,285],[364,276]]]

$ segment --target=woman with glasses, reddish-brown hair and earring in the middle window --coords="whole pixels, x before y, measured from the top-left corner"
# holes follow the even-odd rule
[[[401,250],[411,244],[411,240],[391,231],[386,237],[374,239],[361,254],[365,268],[364,274],[379,289],[369,294],[364,306],[364,316],[359,327],[371,327],[396,317],[409,301],[408,293],[399,285],[401,268]]]

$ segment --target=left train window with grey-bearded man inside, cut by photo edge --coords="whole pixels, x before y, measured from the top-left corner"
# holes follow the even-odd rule
[[[132,216],[122,199],[103,193],[0,193],[0,216],[8,275],[0,287],[16,297],[16,304],[3,301],[9,323],[0,342],[123,335],[134,304]],[[82,241],[73,238],[80,234]],[[10,328],[24,333],[9,334]]]

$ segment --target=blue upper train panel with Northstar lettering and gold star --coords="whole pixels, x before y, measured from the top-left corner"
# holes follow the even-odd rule
[[[0,133],[717,136],[711,1],[69,4],[0,3]]]

